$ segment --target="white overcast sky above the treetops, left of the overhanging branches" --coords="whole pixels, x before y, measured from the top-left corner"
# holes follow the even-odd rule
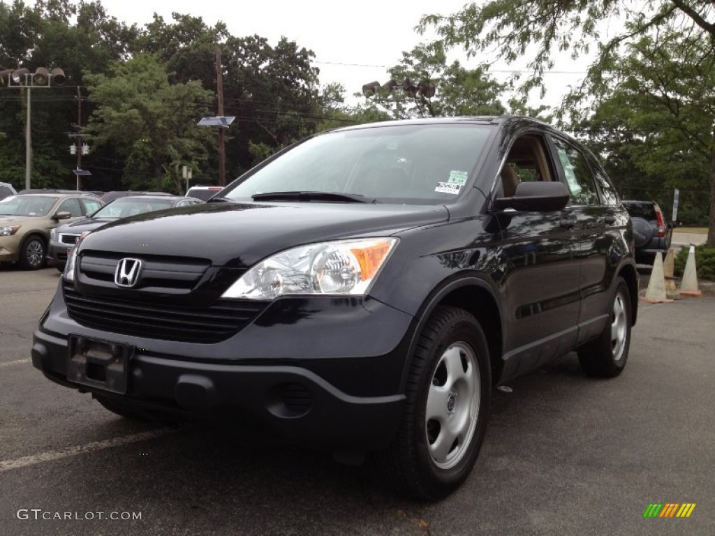
[[[9,0],[3,0],[9,1]],[[29,0],[27,4],[34,4]],[[398,63],[403,51],[409,51],[430,36],[420,36],[415,26],[425,14],[453,14],[465,0],[362,0],[340,2],[327,0],[102,0],[107,14],[127,24],[139,26],[152,21],[154,12],[172,21],[172,11],[200,16],[213,26],[227,24],[234,36],[258,34],[276,44],[281,36],[296,41],[315,53],[315,66],[320,69],[320,83],[340,82],[347,96],[360,91],[363,84],[387,81],[386,69]],[[526,61],[525,61],[526,63]],[[519,66],[503,66],[516,69]],[[559,73],[548,77],[551,89],[546,104],[558,104],[568,84],[575,84],[583,71],[576,65],[560,61]],[[508,74],[495,71],[497,79]],[[532,103],[536,104],[536,103]]]

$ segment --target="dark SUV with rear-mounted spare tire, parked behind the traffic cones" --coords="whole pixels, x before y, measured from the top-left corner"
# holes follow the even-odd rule
[[[661,207],[654,201],[623,201],[633,222],[636,262],[653,264],[656,255],[663,257],[670,248],[671,234]]]

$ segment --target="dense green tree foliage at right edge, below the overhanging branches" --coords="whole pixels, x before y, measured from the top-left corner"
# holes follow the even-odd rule
[[[613,89],[593,104],[581,131],[601,154],[622,197],[654,199],[668,217],[680,189],[679,220],[706,224],[715,150],[715,56],[670,33],[644,36],[603,74]]]

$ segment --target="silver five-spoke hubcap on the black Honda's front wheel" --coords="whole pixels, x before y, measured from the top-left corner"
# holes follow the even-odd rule
[[[473,349],[464,342],[445,349],[432,375],[425,413],[428,450],[437,467],[454,467],[467,452],[477,425],[480,390]]]

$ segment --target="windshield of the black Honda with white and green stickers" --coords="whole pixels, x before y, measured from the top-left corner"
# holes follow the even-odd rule
[[[439,204],[466,189],[492,132],[478,124],[407,124],[330,132],[297,145],[222,192],[337,192]]]

